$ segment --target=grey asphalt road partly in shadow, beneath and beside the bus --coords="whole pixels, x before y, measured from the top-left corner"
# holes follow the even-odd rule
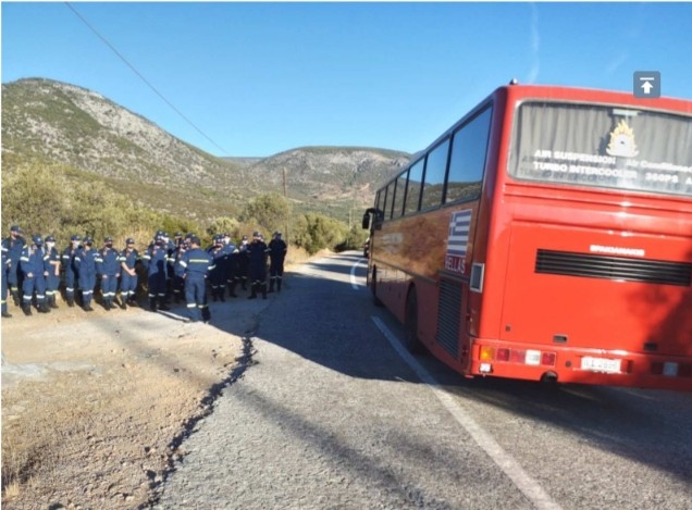
[[[692,395],[465,380],[401,349],[358,261],[258,302],[157,508],[692,508]]]

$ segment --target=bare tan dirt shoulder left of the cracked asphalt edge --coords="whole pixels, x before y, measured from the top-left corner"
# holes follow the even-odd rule
[[[254,302],[213,304],[209,325],[139,308],[86,313],[60,303],[27,318],[10,306],[3,508],[147,507],[184,456],[182,439],[234,377]]]

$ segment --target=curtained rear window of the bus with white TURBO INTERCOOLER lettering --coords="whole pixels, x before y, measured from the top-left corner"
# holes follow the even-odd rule
[[[692,197],[692,117],[631,108],[524,102],[510,175]]]

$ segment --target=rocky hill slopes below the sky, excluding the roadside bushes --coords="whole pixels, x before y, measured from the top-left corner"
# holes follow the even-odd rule
[[[11,162],[64,163],[133,200],[198,219],[234,214],[260,192],[283,194],[285,174],[296,209],[343,220],[409,157],[336,147],[217,158],[95,91],[42,78],[2,85],[2,152]]]

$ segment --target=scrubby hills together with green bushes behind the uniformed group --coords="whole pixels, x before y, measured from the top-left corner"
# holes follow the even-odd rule
[[[359,248],[349,232],[403,152],[307,147],[270,158],[208,154],[102,96],[42,78],[2,85],[2,233],[72,234],[144,247],[162,228],[208,242],[279,229],[295,245]],[[355,222],[358,223],[358,222]]]

